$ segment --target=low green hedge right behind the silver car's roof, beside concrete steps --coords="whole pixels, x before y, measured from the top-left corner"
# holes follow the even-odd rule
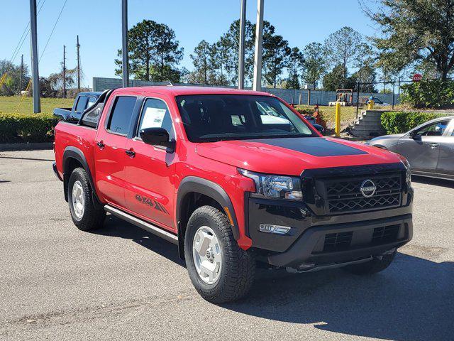
[[[387,134],[401,134],[413,129],[419,124],[443,116],[433,112],[384,112],[382,126]]]

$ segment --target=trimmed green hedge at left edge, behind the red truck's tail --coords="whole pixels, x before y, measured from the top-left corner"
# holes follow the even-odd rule
[[[0,143],[51,142],[57,122],[49,114],[0,113]]]

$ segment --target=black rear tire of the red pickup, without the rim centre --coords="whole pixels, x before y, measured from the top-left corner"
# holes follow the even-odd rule
[[[73,188],[74,183],[82,185],[82,201],[83,213],[80,217],[77,216],[73,204]],[[82,231],[91,231],[102,227],[106,219],[106,211],[102,208],[96,208],[92,201],[92,186],[89,184],[89,178],[84,168],[76,168],[70,175],[67,188],[68,204],[70,205],[70,212],[72,222]],[[79,213],[80,215],[80,213]]]

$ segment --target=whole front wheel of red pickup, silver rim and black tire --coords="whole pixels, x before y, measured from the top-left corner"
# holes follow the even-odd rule
[[[238,247],[228,218],[215,207],[202,206],[192,213],[184,255],[189,278],[206,301],[236,301],[253,283],[255,259]]]

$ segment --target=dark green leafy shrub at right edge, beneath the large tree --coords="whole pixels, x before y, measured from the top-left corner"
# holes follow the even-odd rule
[[[400,100],[415,108],[454,107],[454,81],[421,80],[402,85]]]

